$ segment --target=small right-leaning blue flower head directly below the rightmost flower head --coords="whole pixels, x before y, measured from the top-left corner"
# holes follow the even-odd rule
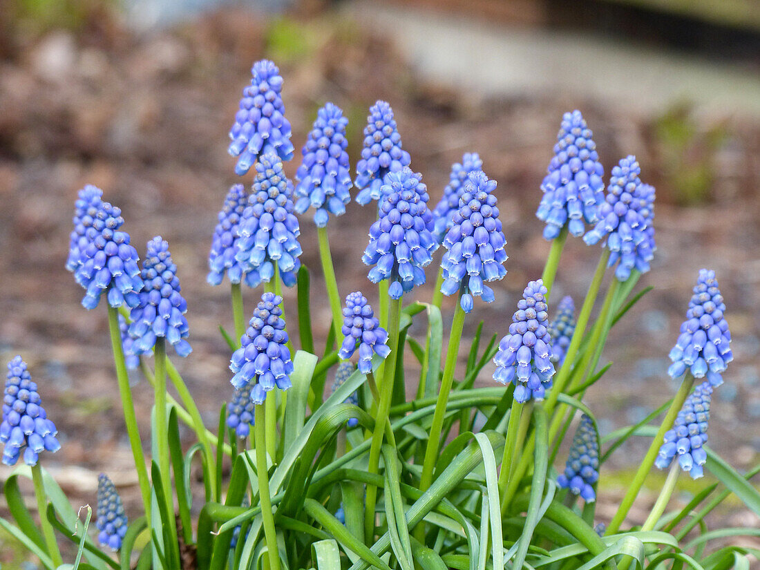
[[[692,479],[702,477],[702,466],[708,460],[703,445],[708,441],[712,391],[710,382],[705,381],[686,398],[673,429],[665,432],[660,453],[654,461],[658,469],[669,467],[677,455],[681,469],[689,473]]]

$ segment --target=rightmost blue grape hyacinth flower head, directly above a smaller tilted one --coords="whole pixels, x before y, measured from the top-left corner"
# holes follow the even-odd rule
[[[722,374],[733,360],[725,311],[715,272],[701,269],[686,321],[681,325],[676,346],[670,350],[670,378],[679,378],[688,370],[695,378],[706,377],[713,386],[723,384]]]

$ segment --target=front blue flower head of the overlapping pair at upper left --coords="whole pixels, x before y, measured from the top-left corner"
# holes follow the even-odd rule
[[[82,306],[94,309],[107,290],[110,306],[118,308],[126,303],[135,307],[143,283],[138,252],[130,245],[129,234],[121,230],[122,211],[105,201],[97,202],[93,210],[92,225],[87,230],[92,239],[80,250],[74,272],[74,279],[86,291]]]

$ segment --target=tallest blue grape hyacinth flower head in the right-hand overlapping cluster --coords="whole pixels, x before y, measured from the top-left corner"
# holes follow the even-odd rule
[[[597,223],[597,207],[604,200],[604,169],[592,136],[580,111],[562,116],[536,212],[538,219],[546,222],[546,239],[555,239],[565,226],[572,236],[579,237],[586,223]]]

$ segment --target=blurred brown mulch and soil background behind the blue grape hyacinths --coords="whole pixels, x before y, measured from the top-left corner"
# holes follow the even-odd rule
[[[735,360],[714,395],[710,443],[741,470],[758,461],[760,17],[711,19],[614,2],[576,11],[556,0],[477,0],[466,13],[454,0],[306,2],[267,13],[223,2],[192,17],[161,6],[151,12],[154,4],[122,10],[96,0],[0,0],[0,359],[20,353],[29,363],[62,442],[43,461],[74,505],[94,505],[100,471],[121,487],[131,514],[139,502],[106,311],[81,307],[82,290],[64,268],[76,193],[87,183],[103,188],[122,207],[141,255],[153,236],[169,240],[194,349],[174,363],[215,425],[221,401],[232,395],[230,353],[217,327],[232,323],[226,282],[206,283],[207,252],[227,188],[241,181],[226,154],[227,131],[252,62],[263,57],[274,59],[285,81],[297,149],[286,165],[291,176],[316,110],[328,100],[350,119],[352,165],[367,109],[388,100],[432,203],[451,163],[464,152],[480,153],[499,182],[510,258],[496,302],[476,303],[466,339],[481,318],[488,335],[505,334],[524,284],[540,277],[549,244],[534,215],[539,186],[562,112],[581,109],[606,173],[635,154],[641,178],[657,188],[657,252],[639,286],[655,288],[610,335],[603,363],[614,366],[588,392],[587,404],[605,433],[643,419],[673,395],[667,352],[698,270],[714,268]],[[352,203],[328,228],[341,293],[364,290],[373,305],[377,292],[360,257],[374,219],[372,207]],[[313,325],[324,339],[330,311],[311,214],[301,221]],[[598,246],[568,241],[554,299],[571,294],[580,305],[599,253]],[[429,280],[433,275],[429,270]],[[431,289],[428,283],[413,299],[429,299]],[[257,293],[245,292],[246,309]],[[285,297],[286,315],[293,315],[295,292]],[[446,299],[446,323],[452,312]],[[468,348],[465,341],[463,355]],[[410,363],[409,378],[413,372]],[[492,382],[491,372],[486,367],[482,385]],[[138,420],[147,426],[152,391],[140,375],[132,379]],[[625,445],[605,464],[600,519],[613,515],[647,444]],[[0,480],[8,473],[0,470]],[[681,499],[710,477],[687,479],[680,480]],[[651,496],[637,502],[632,521],[643,521],[663,480],[653,473]],[[726,505],[720,516],[728,526],[760,524],[736,502]],[[3,540],[0,563],[24,559]]]

